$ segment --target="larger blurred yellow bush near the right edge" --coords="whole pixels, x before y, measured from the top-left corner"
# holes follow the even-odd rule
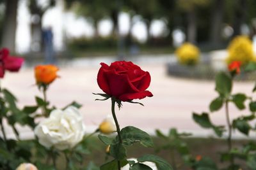
[[[241,61],[243,65],[255,60],[253,57],[252,41],[247,36],[237,36],[232,39],[227,50],[227,64],[233,61]]]

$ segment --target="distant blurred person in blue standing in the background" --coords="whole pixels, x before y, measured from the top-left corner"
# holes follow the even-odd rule
[[[43,41],[44,41],[44,56],[46,64],[56,64],[56,59],[54,57],[54,49],[53,49],[53,34],[52,28],[47,27],[43,29]]]

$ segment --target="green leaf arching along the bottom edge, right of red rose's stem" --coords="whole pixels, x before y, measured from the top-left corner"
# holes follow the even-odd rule
[[[166,162],[166,160],[162,159],[161,157],[157,157],[156,155],[143,155],[142,157],[138,158],[138,162],[154,162],[158,170],[173,170],[172,166]]]

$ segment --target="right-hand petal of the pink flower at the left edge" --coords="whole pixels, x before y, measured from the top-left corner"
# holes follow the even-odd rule
[[[19,71],[24,59],[20,57],[7,57],[4,59],[4,69],[9,71]]]

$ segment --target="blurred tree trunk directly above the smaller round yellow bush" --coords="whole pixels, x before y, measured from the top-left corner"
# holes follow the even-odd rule
[[[188,28],[187,28],[188,41],[196,43],[196,13],[195,10],[188,12]]]

